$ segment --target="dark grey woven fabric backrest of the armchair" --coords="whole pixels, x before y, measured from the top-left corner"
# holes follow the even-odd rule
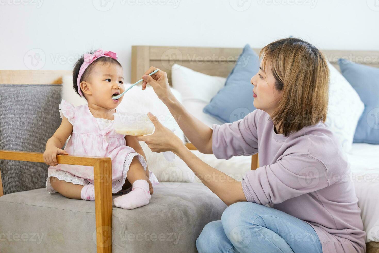
[[[0,84],[0,94],[0,149],[44,152],[61,123],[61,85]],[[45,187],[48,167],[0,160],[4,194]]]

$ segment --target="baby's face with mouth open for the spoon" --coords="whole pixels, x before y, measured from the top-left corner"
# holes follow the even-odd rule
[[[122,97],[117,100],[112,99],[116,93],[124,92],[124,71],[121,66],[115,63],[98,63],[92,69],[90,77],[91,100],[94,104],[103,108],[114,109],[122,101]]]

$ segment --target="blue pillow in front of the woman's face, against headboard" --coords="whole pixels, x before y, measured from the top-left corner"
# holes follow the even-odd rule
[[[255,110],[250,79],[257,74],[259,57],[246,45],[226,79],[225,86],[204,107],[207,113],[223,123],[232,123]]]

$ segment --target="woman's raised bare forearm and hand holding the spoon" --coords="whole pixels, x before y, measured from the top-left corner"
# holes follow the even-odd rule
[[[212,151],[212,133],[213,130],[202,123],[199,119],[191,115],[180,102],[171,93],[167,79],[167,74],[164,71],[158,71],[155,75],[148,75],[157,68],[150,67],[143,75],[143,90],[149,83],[161,101],[168,107],[171,114],[174,116],[180,129],[188,138],[189,141],[202,153],[213,154]]]

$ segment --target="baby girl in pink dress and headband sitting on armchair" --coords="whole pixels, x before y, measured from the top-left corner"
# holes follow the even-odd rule
[[[157,178],[149,172],[146,156],[135,136],[117,134],[114,112],[122,97],[124,78],[117,54],[98,49],[83,55],[74,67],[73,87],[88,104],[74,107],[62,100],[62,123],[46,143],[44,160],[48,169],[46,189],[67,198],[95,200],[93,167],[58,164],[57,154],[100,156],[112,159],[112,193],[117,207],[133,209],[149,203]],[[66,148],[61,149],[67,142]]]

